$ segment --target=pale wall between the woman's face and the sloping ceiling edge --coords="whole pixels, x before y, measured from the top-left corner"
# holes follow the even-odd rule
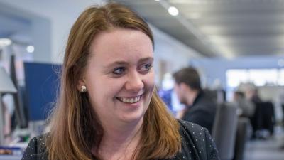
[[[173,73],[174,71],[188,66],[192,58],[202,58],[192,48],[186,46],[176,40],[167,33],[160,31],[158,28],[150,24],[154,34],[155,50],[154,50],[154,68],[156,74],[156,84],[161,85],[161,80],[165,73]],[[161,66],[161,64],[163,64]]]

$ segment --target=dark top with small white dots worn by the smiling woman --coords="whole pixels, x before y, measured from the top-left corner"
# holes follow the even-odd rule
[[[171,159],[160,160],[219,160],[218,151],[207,129],[191,122],[178,120],[182,150]],[[31,139],[22,160],[48,160],[43,135]]]

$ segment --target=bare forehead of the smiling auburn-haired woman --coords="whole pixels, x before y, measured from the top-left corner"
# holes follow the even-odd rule
[[[151,39],[141,31],[114,28],[99,33],[92,41],[90,52],[96,60],[104,60],[107,63],[114,60],[152,57],[153,46]]]

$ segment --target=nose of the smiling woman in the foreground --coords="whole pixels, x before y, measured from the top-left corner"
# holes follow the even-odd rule
[[[137,72],[129,74],[129,76],[127,77],[126,84],[125,84],[126,90],[138,92],[141,89],[143,89],[144,83],[142,80],[142,76],[143,75],[140,75]]]

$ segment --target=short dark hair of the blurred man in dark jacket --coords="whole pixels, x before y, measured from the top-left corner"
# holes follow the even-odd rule
[[[181,70],[173,73],[173,78],[178,85],[183,82],[192,89],[201,90],[200,75],[198,75],[195,68],[182,68]]]

